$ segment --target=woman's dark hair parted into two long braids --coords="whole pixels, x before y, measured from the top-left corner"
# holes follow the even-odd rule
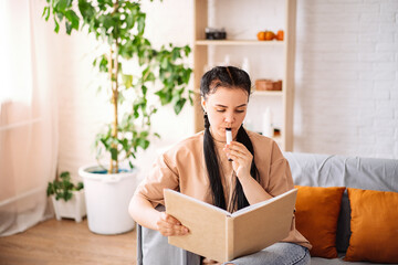
[[[214,93],[220,86],[231,89],[243,89],[248,92],[249,97],[251,82],[248,73],[245,73],[243,70],[233,66],[217,66],[202,76],[200,81],[200,95],[206,99],[209,94]],[[252,178],[259,181],[259,172],[254,163],[254,148],[243,126],[241,126],[238,130],[237,141],[242,142],[252,153],[253,160],[250,169],[250,174],[252,176]],[[218,155],[214,149],[213,138],[210,134],[210,123],[207,114],[205,114],[203,152],[213,203],[216,206],[227,210],[227,203],[218,163]],[[237,180],[235,188],[232,194],[232,200],[228,209],[230,211],[233,211],[235,208],[238,208],[239,210],[248,205],[249,202],[243,193],[243,188],[239,180]]]

